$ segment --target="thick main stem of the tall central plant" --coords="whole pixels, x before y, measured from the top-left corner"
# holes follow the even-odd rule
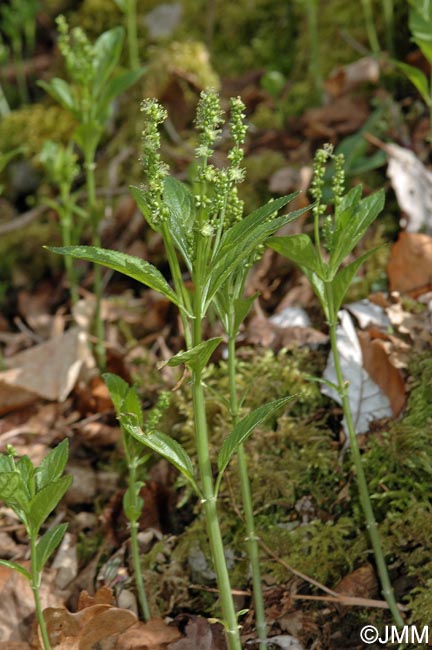
[[[197,269],[201,264],[201,246],[198,244]],[[201,276],[202,277],[202,276]],[[198,345],[202,340],[202,303],[201,285],[195,282],[195,320],[193,325],[193,345]],[[225,631],[228,637],[229,650],[241,650],[240,632],[237,624],[237,616],[234,608],[234,601],[231,593],[231,584],[226,565],[222,534],[217,514],[217,498],[214,489],[207,430],[207,417],[204,390],[201,371],[192,373],[192,395],[195,420],[195,439],[199,472],[201,478],[201,489],[203,494],[203,507],[206,518],[207,534],[209,537],[211,554],[216,572],[219,588],[219,597],[222,607],[222,616]]]

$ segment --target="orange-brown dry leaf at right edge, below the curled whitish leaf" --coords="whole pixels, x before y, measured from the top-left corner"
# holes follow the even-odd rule
[[[402,232],[392,246],[387,265],[391,291],[401,293],[430,290],[432,286],[432,237]]]

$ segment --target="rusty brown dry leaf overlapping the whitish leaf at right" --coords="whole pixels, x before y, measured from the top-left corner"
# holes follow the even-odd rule
[[[369,332],[358,332],[357,335],[364,369],[389,398],[393,415],[399,415],[405,405],[405,383],[401,371],[392,365],[382,340],[372,339]]]

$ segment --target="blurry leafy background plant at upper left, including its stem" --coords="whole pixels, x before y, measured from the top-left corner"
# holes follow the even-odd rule
[[[57,18],[59,48],[63,55],[70,83],[55,77],[39,85],[63,108],[75,117],[78,126],[73,140],[84,156],[87,207],[92,230],[93,246],[100,245],[99,222],[101,211],[96,199],[96,150],[111,116],[113,101],[142,75],[143,70],[132,70],[114,75],[123,47],[124,30],[114,27],[104,32],[91,44],[80,27],[69,30],[64,16]],[[95,268],[96,296],[95,333],[96,356],[100,369],[105,367],[104,327],[101,316],[102,277]]]

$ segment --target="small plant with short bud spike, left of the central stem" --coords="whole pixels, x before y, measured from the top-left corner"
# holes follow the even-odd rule
[[[144,483],[138,479],[137,472],[148,461],[149,455],[143,456],[142,442],[128,433],[127,427],[123,426],[123,421],[125,417],[128,418],[128,421],[132,417],[135,424],[145,433],[151,433],[157,427],[163,411],[168,406],[169,394],[166,392],[161,393],[156,406],[150,411],[147,420],[144,422],[135,386],[129,386],[121,377],[112,373],[105,373],[103,379],[111,395],[122,430],[123,449],[128,466],[128,488],[123,497],[123,510],[129,521],[131,531],[132,564],[141,615],[144,621],[148,621],[150,619],[150,609],[141,574],[138,545],[139,519],[144,505],[139,494]]]

